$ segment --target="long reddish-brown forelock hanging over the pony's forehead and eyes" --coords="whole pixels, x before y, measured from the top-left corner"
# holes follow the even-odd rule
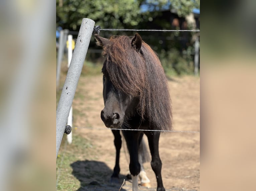
[[[131,39],[126,36],[111,38],[104,48],[104,67],[113,85],[126,94],[139,97],[145,83],[145,61],[131,46]]]

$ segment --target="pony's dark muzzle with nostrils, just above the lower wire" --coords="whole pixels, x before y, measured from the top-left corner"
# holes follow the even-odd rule
[[[120,123],[120,114],[118,112],[106,112],[104,109],[101,111],[101,119],[106,127],[114,128]]]

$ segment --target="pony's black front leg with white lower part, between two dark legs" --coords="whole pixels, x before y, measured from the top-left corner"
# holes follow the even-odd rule
[[[140,173],[140,163],[138,159],[139,135],[141,132],[123,131],[127,148],[130,154],[129,170],[132,175],[132,191],[138,191],[138,174]]]

